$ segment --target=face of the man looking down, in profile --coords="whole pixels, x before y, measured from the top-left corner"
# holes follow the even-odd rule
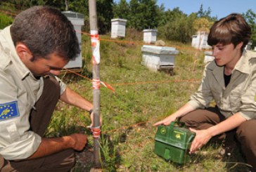
[[[33,57],[32,57],[33,58]],[[23,60],[25,66],[34,74],[34,76],[44,76],[46,74],[59,75],[60,70],[67,65],[67,61],[60,56],[52,53],[49,58],[36,58],[32,60]]]

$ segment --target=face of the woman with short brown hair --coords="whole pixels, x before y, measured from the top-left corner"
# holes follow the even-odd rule
[[[212,46],[212,55],[215,57],[215,62],[219,66],[233,65],[241,57],[241,46],[238,44],[235,48],[233,44],[217,44]]]

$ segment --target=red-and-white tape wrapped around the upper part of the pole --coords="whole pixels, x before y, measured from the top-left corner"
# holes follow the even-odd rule
[[[91,30],[92,62],[94,65],[100,63],[100,37],[97,30]]]

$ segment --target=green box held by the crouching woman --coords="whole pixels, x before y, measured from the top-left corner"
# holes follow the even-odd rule
[[[188,151],[195,135],[179,121],[172,121],[169,126],[158,126],[155,153],[166,161],[185,164],[191,161]]]

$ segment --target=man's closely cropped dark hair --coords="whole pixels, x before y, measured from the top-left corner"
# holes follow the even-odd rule
[[[25,44],[35,58],[55,53],[65,60],[74,60],[80,53],[72,23],[49,6],[34,6],[19,13],[11,25],[11,37],[14,45]]]

